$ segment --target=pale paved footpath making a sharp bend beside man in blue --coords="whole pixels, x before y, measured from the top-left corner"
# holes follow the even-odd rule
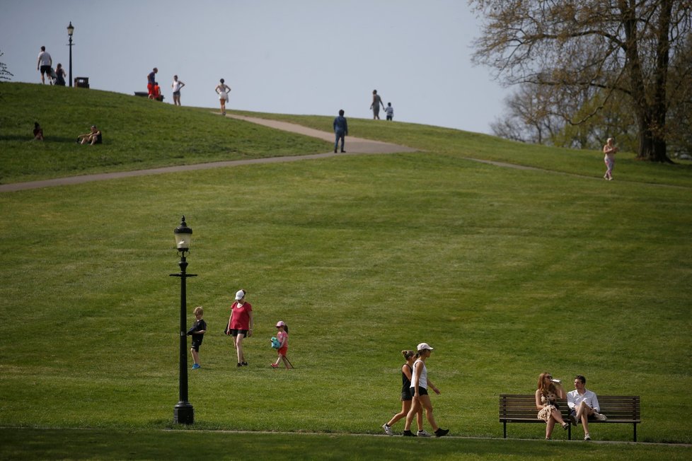
[[[324,141],[334,142],[334,134],[329,132],[321,132],[318,129],[311,129],[302,127],[301,125],[288,123],[288,122],[278,122],[277,120],[267,120],[259,119],[255,117],[246,117],[244,115],[231,115],[228,114],[226,117],[239,119],[246,122],[252,122],[265,127],[270,127],[274,129],[281,129],[287,132],[294,132],[298,134],[304,134],[305,136],[312,136],[318,139],[323,139]],[[98,175],[81,175],[81,176],[71,176],[71,177],[58,177],[52,180],[42,180],[42,181],[30,181],[30,182],[15,182],[13,184],[0,185],[0,192],[16,192],[19,190],[27,189],[39,189],[41,187],[52,187],[52,186],[64,186],[73,184],[82,184],[83,182],[92,181],[103,181],[103,180],[113,180],[120,177],[134,177],[134,176],[145,176],[145,175],[161,175],[164,173],[178,173],[180,171],[192,171],[192,170],[209,170],[210,168],[221,168],[229,166],[238,165],[253,165],[255,163],[277,163],[277,162],[295,162],[302,160],[311,160],[314,158],[328,158],[335,156],[347,156],[353,154],[361,153],[396,153],[396,152],[415,152],[414,148],[406,146],[398,146],[396,144],[388,144],[381,141],[371,141],[369,139],[354,138],[352,136],[346,137],[346,153],[315,153],[305,156],[283,156],[283,157],[270,157],[270,158],[252,158],[249,160],[235,160],[235,161],[222,161],[213,163],[198,163],[197,165],[178,165],[178,166],[168,166],[163,168],[151,168],[149,170],[134,170],[134,171],[122,171],[118,173],[100,173]]]

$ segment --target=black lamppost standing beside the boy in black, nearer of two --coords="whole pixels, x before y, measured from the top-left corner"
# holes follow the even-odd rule
[[[180,274],[171,274],[173,277],[180,277],[180,380],[179,380],[179,399],[173,407],[173,422],[180,424],[192,424],[195,422],[195,410],[188,402],[188,326],[187,326],[187,293],[185,293],[185,279],[196,277],[197,274],[186,274],[185,269],[188,262],[185,260],[185,252],[190,251],[190,240],[192,240],[192,228],[185,223],[185,216],[180,226],[173,230],[175,235],[175,247],[180,253]]]

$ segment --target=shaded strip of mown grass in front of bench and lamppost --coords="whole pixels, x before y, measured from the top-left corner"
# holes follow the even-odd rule
[[[64,443],[56,443],[64,440]],[[674,445],[550,443],[531,440],[404,440],[386,436],[206,431],[103,431],[6,429],[0,431],[5,459],[180,460],[687,460],[690,449]]]

